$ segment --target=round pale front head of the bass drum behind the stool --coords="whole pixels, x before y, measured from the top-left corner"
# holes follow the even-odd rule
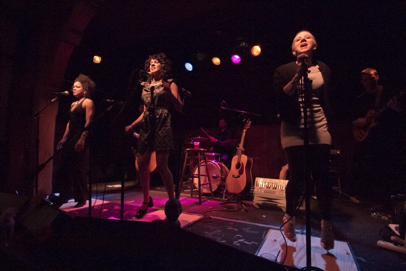
[[[194,167],[194,174],[198,174],[198,165]],[[210,176],[210,181],[212,184],[212,190],[213,192],[216,191],[219,188],[219,184],[221,182],[221,178],[213,178],[213,175],[215,176],[222,176],[221,175],[221,169],[220,166],[215,162],[215,161],[207,161],[207,168],[208,168],[208,175]],[[206,165],[204,161],[200,162],[200,174],[201,175],[206,175]],[[208,182],[207,176],[200,176],[200,183],[206,183]],[[193,177],[193,183],[194,186],[199,189],[198,186],[198,178]],[[201,186],[201,193],[202,194],[210,194],[210,187],[209,185],[203,185]]]

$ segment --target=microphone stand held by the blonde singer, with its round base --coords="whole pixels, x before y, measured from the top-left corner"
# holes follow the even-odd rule
[[[309,80],[308,77],[308,69],[304,65],[305,59],[302,58],[300,60],[302,62],[301,71],[303,75],[303,84],[302,84],[302,107],[303,107],[303,166],[304,166],[304,200],[305,200],[305,208],[306,208],[306,267],[302,268],[303,270],[312,270],[318,271],[321,270],[318,267],[312,266],[312,251],[311,251],[311,213],[310,213],[310,191],[311,181],[310,181],[310,170],[309,170],[309,125],[308,125],[308,110],[312,105],[312,97],[311,97],[311,87],[310,84],[312,80]]]

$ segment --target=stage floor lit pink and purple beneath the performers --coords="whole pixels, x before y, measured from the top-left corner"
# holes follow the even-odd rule
[[[120,185],[108,185],[110,191],[104,195],[97,195],[97,204],[93,207],[92,217],[120,219],[121,215],[123,215],[123,220],[136,220],[133,217],[142,202],[142,193],[139,188],[135,186],[133,188],[126,187],[124,198],[121,198]],[[113,186],[114,189],[112,189]],[[99,187],[98,191],[100,193],[103,190]],[[164,210],[167,200],[166,192],[162,187],[151,188],[150,195],[154,200],[154,207],[148,209],[148,213],[144,218],[147,221],[151,220],[151,218],[162,217],[162,210]],[[96,198],[94,192],[93,197]],[[102,199],[104,202],[100,202]],[[124,202],[123,211],[121,211],[121,200]],[[214,199],[204,196],[202,204],[199,205],[197,191],[194,192],[193,197],[190,197],[190,191],[182,192],[180,201],[183,215],[185,215],[182,227],[188,231],[258,256],[263,254],[264,247],[268,246],[265,241],[269,236],[269,232],[271,232],[270,230],[272,230],[274,237],[280,236],[278,240],[281,244],[283,243],[283,238],[280,239],[279,228],[284,212],[279,208],[254,208],[252,194],[243,196],[242,202],[244,206],[242,202],[223,199],[222,194],[217,194]],[[61,210],[64,210],[64,208],[65,206],[62,206]],[[66,211],[71,216],[88,216],[87,206]],[[377,241],[382,240],[380,230],[384,229],[391,221],[373,217],[371,216],[372,212],[373,207],[371,205],[364,202],[353,202],[346,196],[339,196],[339,193],[336,193],[333,199],[332,223],[335,240],[338,243],[336,242],[336,248],[328,253],[320,247],[320,218],[318,216],[317,201],[312,198],[311,235],[312,251],[315,252],[314,255],[312,254],[312,266],[325,270],[405,269],[406,258],[403,253],[377,246]],[[305,224],[305,213],[299,211],[296,218],[297,234],[306,235]],[[303,242],[299,243],[294,244],[288,241],[287,251],[289,251],[289,248],[292,249],[299,245],[303,247],[305,245],[305,243],[303,245]],[[339,244],[340,246],[338,246]],[[283,251],[283,245],[280,245],[280,247],[282,247],[281,251]],[[346,248],[342,249],[344,247]],[[283,253],[281,252],[281,254]],[[344,265],[340,264],[343,255],[347,258]],[[303,267],[301,266],[303,262],[306,263],[305,260],[303,261],[306,254],[300,256],[300,261],[292,258],[293,254],[290,256],[291,258],[287,258],[284,264]],[[279,263],[283,261],[281,255],[279,255],[277,261]]]

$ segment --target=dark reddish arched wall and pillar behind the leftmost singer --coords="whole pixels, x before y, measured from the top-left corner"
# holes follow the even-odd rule
[[[2,170],[5,172],[2,177],[6,180],[1,190],[27,195],[35,194],[37,190],[47,194],[51,192],[53,164],[49,158],[54,154],[57,101],[40,113],[39,173],[36,171],[37,121],[29,117],[49,103],[54,97],[50,94],[60,91],[72,52],[80,43],[86,26],[101,2],[104,0],[35,7],[35,12],[40,12],[40,18],[37,21],[27,19],[28,22],[36,22],[35,25],[21,23],[18,16],[33,16],[35,12],[20,7],[17,11],[21,14],[2,19],[2,24],[10,24],[10,27],[5,35],[7,38],[2,37],[6,41],[2,49],[7,49],[2,50],[5,56],[2,62],[8,65],[3,66],[0,72],[4,80],[0,85],[2,105],[7,109],[2,110],[5,130],[2,132],[1,147],[2,157],[8,158],[2,160]],[[46,10],[41,10],[44,8]],[[12,39],[8,40],[8,37]],[[45,163],[47,160],[49,162]]]

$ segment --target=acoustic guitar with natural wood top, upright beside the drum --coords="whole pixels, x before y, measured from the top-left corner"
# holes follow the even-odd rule
[[[231,160],[231,169],[225,181],[225,187],[230,193],[247,193],[252,187],[252,158],[243,154],[245,133],[251,121],[247,120],[241,137],[241,143],[237,149],[237,154]]]

